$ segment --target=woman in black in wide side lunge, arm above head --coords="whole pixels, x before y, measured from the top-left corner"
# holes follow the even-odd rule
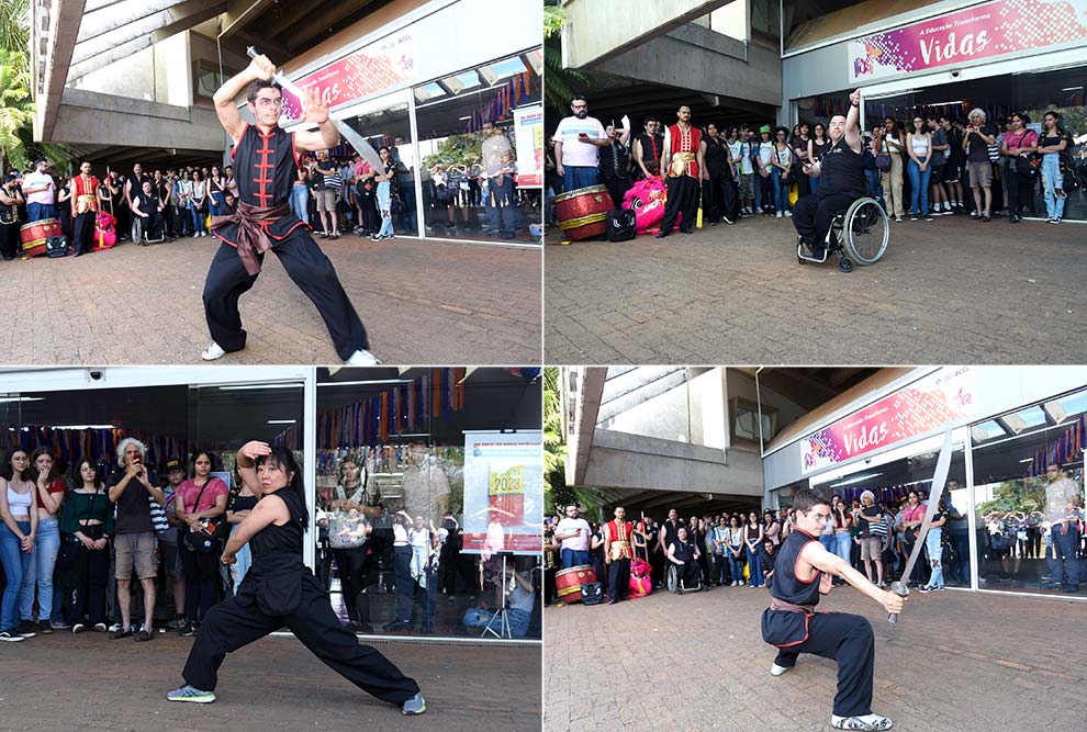
[[[226,654],[287,626],[314,655],[363,691],[396,705],[405,714],[426,711],[418,684],[381,653],[359,644],[302,563],[302,536],[310,517],[294,455],[282,447],[246,442],[238,450],[237,469],[258,500],[226,542],[223,563],[234,564],[235,554],[248,542],[253,566],[237,595],[209,610],[181,672],[186,683],[166,698],[215,701],[218,667]]]

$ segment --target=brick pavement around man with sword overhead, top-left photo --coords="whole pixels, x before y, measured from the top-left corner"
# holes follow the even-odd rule
[[[320,240],[318,240],[320,241]],[[346,236],[320,241],[389,364],[538,363],[540,252]],[[202,363],[204,277],[218,243],[132,244],[0,263],[0,362]],[[274,256],[240,301],[245,350],[220,363],[339,363],[316,308]]]

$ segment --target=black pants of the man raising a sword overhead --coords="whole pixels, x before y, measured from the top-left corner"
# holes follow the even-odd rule
[[[370,342],[362,320],[344,292],[332,262],[310,233],[296,228],[272,251],[294,284],[316,305],[339,358],[346,361],[355,351],[368,349]],[[257,258],[264,261],[264,255]],[[204,282],[204,316],[212,339],[226,352],[245,348],[246,333],[242,328],[238,299],[253,288],[257,277],[245,271],[234,247],[225,241],[220,245]]]

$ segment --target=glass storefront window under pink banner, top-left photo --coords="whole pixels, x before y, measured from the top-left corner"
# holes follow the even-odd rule
[[[416,87],[426,236],[536,241],[540,189],[525,184],[518,111],[541,103],[539,54],[530,52]],[[524,129],[524,132],[522,132]],[[534,144],[528,150],[535,149]]]

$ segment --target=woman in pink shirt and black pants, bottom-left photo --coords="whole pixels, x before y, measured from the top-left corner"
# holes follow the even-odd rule
[[[188,619],[178,635],[192,635],[200,627],[200,619],[206,617],[218,599],[215,585],[222,536],[226,531],[222,519],[231,491],[226,483],[211,475],[211,468],[209,452],[193,452],[192,477],[178,486],[175,499],[177,517],[184,523],[178,551],[184,568],[184,613]],[[212,530],[213,526],[215,530]]]

